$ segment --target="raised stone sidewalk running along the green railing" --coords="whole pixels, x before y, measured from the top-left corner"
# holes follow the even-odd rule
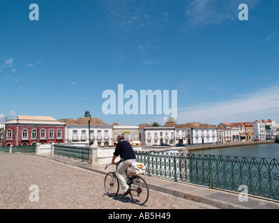
[[[64,157],[46,155],[45,157],[66,164],[82,167],[90,171],[95,171],[100,174],[106,174],[104,165],[88,164]],[[248,201],[239,201],[239,194],[234,192],[225,192],[223,190],[213,190],[208,187],[199,185],[191,185],[188,183],[178,183],[173,180],[163,178],[155,178],[145,176],[146,183],[149,188],[154,191],[171,194],[174,197],[197,201],[199,203],[208,204],[216,208],[234,208],[234,209],[279,209],[279,202],[269,201],[268,199],[248,197]]]

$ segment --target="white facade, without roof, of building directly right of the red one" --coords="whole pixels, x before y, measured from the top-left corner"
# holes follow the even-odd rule
[[[88,125],[66,125],[65,143],[89,144]],[[93,146],[112,146],[112,125],[91,125],[90,141]]]

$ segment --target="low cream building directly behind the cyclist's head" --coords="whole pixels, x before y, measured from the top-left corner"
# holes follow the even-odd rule
[[[119,125],[112,124],[112,137],[114,144],[117,144],[117,137],[123,135],[124,140],[129,141],[131,145],[141,145],[140,141],[140,127],[138,125]]]

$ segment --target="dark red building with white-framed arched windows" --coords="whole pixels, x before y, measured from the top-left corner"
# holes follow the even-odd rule
[[[66,123],[50,116],[18,116],[6,119],[5,146],[63,144]]]

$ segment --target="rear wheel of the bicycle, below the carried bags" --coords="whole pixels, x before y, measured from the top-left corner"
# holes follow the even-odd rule
[[[130,183],[130,197],[138,205],[144,205],[149,199],[149,187],[142,177],[136,176]]]

